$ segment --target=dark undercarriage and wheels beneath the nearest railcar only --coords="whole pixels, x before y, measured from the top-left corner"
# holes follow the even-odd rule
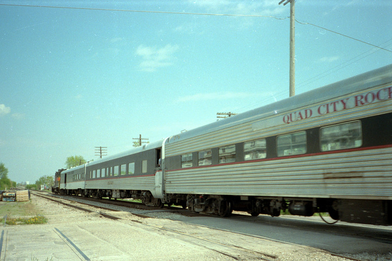
[[[279,216],[286,210],[292,215],[312,216],[328,213],[334,220],[350,223],[392,225],[392,200],[268,198],[229,195],[187,195],[187,207],[194,212],[229,216],[245,211],[252,216]]]

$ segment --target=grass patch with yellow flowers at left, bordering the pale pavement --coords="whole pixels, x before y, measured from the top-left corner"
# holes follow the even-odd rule
[[[44,224],[48,219],[40,214],[31,201],[26,202],[0,202],[0,224],[27,225]]]

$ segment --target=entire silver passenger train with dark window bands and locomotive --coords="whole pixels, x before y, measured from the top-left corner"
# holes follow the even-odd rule
[[[392,224],[392,65],[55,174],[52,191]]]

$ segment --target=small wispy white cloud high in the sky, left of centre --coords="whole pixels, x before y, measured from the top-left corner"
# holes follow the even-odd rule
[[[174,53],[178,50],[177,45],[166,45],[165,47],[147,47],[140,45],[136,54],[142,57],[139,67],[142,71],[156,71],[161,67],[168,67],[173,64]]]

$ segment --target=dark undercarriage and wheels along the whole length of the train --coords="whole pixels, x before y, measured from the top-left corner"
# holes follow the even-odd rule
[[[56,191],[54,191],[56,192]],[[168,194],[164,200],[154,198],[144,190],[60,190],[60,194],[75,194],[101,199],[140,199],[147,206],[161,208],[164,204],[188,207],[196,213],[229,216],[233,211],[243,211],[258,216],[279,216],[289,211],[292,215],[312,216],[328,213],[334,220],[371,225],[392,225],[392,200],[328,199],[328,198],[274,198],[257,196],[231,196],[206,194]]]

